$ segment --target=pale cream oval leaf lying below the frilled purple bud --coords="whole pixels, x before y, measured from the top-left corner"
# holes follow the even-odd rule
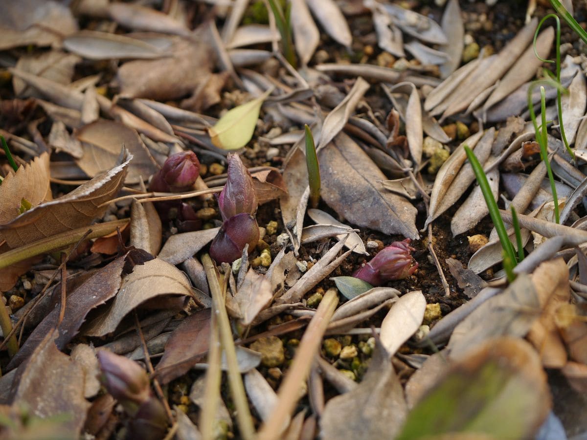
[[[401,296],[387,312],[381,323],[379,334],[381,344],[390,356],[410,337],[422,324],[426,312],[426,299],[421,290]]]

